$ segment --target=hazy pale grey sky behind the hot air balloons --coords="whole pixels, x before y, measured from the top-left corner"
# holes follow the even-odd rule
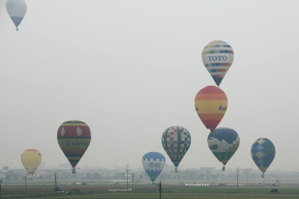
[[[82,120],[92,134],[79,167],[142,166],[149,151],[171,164],[161,135],[183,126],[192,140],[184,168],[219,169],[194,98],[216,85],[202,49],[223,40],[235,56],[218,127],[240,136],[226,168],[257,169],[250,148],[267,137],[269,171],[297,169],[299,1],[25,1],[17,32],[0,0],[0,166],[23,167],[31,148],[47,166],[68,162],[57,129]]]

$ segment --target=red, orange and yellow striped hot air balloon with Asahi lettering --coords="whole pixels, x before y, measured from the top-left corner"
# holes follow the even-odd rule
[[[216,86],[206,86],[195,97],[195,110],[206,128],[212,132],[222,120],[227,110],[227,97]]]

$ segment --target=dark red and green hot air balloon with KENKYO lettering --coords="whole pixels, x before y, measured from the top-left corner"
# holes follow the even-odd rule
[[[91,131],[85,122],[70,120],[62,123],[57,131],[58,144],[76,173],[75,166],[87,150]]]

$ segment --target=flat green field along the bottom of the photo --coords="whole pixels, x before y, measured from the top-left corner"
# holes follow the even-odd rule
[[[2,188],[2,187],[1,187]],[[108,189],[125,189],[126,186],[65,186],[64,191],[80,189],[72,195],[53,194],[53,186],[29,186],[27,190],[23,186],[3,186],[1,198],[116,198],[116,199],[155,199],[159,198],[156,186],[136,186],[133,192],[108,192]],[[195,198],[299,198],[299,187],[275,187],[279,194],[270,193],[273,187],[237,187],[209,186],[164,186],[162,198],[195,199]]]

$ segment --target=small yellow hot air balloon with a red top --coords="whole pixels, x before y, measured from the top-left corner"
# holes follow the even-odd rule
[[[36,149],[27,149],[22,153],[21,161],[27,172],[33,176],[42,161],[42,155]]]

